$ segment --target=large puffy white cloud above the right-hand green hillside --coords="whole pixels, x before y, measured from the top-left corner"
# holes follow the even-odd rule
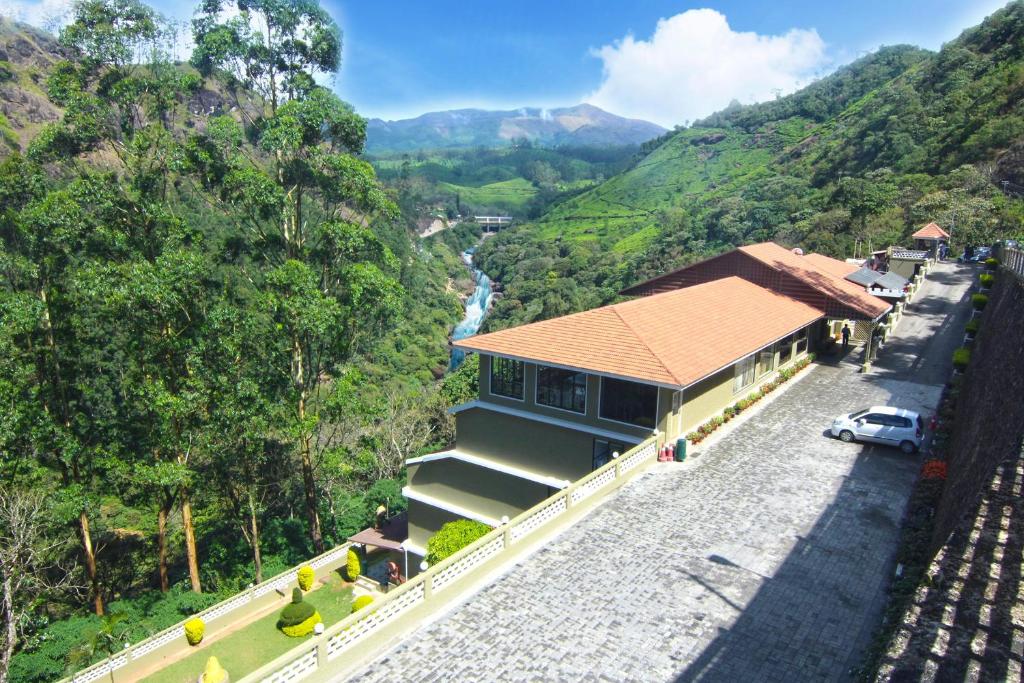
[[[650,39],[628,35],[593,54],[604,62],[604,75],[587,101],[670,128],[733,99],[750,103],[793,92],[829,61],[813,29],[781,36],[737,32],[714,9],[659,19]]]

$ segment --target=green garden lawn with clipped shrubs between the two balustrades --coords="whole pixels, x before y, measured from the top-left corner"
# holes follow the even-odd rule
[[[326,626],[337,624],[352,613],[352,590],[337,573],[326,585],[308,593],[305,600],[315,605]],[[241,679],[288,650],[312,638],[289,638],[278,630],[275,610],[244,629],[175,661],[142,680],[153,683],[195,683],[206,667],[207,658],[216,656],[232,681]]]

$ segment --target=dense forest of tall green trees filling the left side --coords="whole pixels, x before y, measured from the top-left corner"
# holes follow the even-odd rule
[[[189,62],[136,0],[80,0],[57,41],[4,26],[46,58],[0,79],[56,115],[0,161],[0,681],[400,511],[404,460],[474,391],[438,381],[473,236],[420,245],[378,182],[317,85],[328,12],[198,9]]]

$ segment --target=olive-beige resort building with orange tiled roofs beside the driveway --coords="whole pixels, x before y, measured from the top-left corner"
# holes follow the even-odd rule
[[[890,304],[858,266],[766,243],[631,288],[639,298],[469,337],[479,397],[453,409],[451,450],[407,462],[409,540],[459,518],[497,526],[657,435],[673,441],[833,334]],[[837,330],[838,332],[838,330]]]

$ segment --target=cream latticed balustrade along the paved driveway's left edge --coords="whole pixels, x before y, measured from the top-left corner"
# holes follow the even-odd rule
[[[651,437],[409,583],[392,589],[367,607],[329,628],[324,634],[249,674],[239,683],[291,682],[309,676],[344,654],[354,644],[431,600],[434,594],[457,586],[459,579],[509,551],[512,546],[553,519],[566,514],[577,503],[622,480],[641,465],[653,462],[656,454],[657,441]]]

